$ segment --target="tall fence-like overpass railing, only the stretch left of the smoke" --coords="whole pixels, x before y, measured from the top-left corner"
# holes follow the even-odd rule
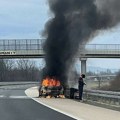
[[[0,50],[42,50],[43,39],[0,40]]]

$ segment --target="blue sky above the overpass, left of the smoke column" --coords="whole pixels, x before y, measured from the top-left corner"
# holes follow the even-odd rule
[[[0,39],[40,38],[47,13],[45,0],[0,0]]]

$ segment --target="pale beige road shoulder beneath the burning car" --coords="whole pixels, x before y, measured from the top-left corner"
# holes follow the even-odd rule
[[[25,91],[26,95],[36,102],[77,120],[119,120],[120,112],[109,110],[71,99],[38,98],[38,88],[32,87]]]

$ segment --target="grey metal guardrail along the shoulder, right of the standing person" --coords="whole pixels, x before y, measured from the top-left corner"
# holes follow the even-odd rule
[[[85,90],[84,99],[120,107],[120,92]]]

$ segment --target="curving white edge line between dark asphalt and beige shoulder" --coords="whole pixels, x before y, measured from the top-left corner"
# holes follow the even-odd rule
[[[32,88],[35,88],[35,87],[32,87]],[[29,88],[28,88],[28,89],[29,89]],[[27,95],[26,91],[27,91],[27,90],[25,90],[25,94]],[[29,96],[28,96],[28,97],[29,97]],[[67,115],[67,116],[69,116],[69,117],[71,117],[71,118],[73,118],[73,119],[76,119],[76,120],[84,120],[84,119],[78,118],[78,117],[76,117],[76,116],[74,116],[74,115],[71,115],[71,114],[69,114],[69,113],[67,113],[67,112],[63,112],[63,111],[61,111],[61,110],[59,110],[59,109],[56,109],[56,108],[54,108],[54,107],[52,107],[52,106],[50,106],[50,105],[46,105],[46,104],[44,104],[44,103],[36,100],[35,98],[32,98],[32,97],[29,97],[29,98],[33,99],[33,100],[36,101],[37,103],[40,103],[40,104],[42,104],[42,105],[44,105],[44,106],[46,106],[46,107],[48,107],[48,108],[50,108],[50,109],[52,109],[52,110],[55,110],[55,111],[57,111],[57,112],[59,112],[59,113],[62,113],[62,114],[64,114],[64,115]]]

